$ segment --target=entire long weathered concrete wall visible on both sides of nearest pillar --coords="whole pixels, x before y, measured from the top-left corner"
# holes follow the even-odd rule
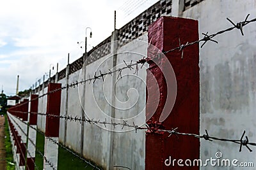
[[[164,1],[161,1],[163,3]],[[248,13],[252,18],[256,17],[256,1],[221,1],[204,0],[195,6],[181,8],[184,1],[175,0],[172,3],[173,16],[193,18],[199,21],[199,32],[209,34],[226,29],[232,26],[226,17],[234,22],[244,20]],[[159,16],[160,17],[160,16]],[[127,24],[128,25],[128,24]],[[219,138],[239,139],[246,130],[250,141],[256,141],[253,131],[256,127],[254,112],[256,110],[256,29],[255,24],[244,27],[244,36],[239,30],[234,30],[216,36],[218,44],[207,42],[204,48],[200,48],[200,133],[205,134],[205,129],[210,136]],[[136,35],[136,34],[134,34]],[[202,34],[200,34],[202,38]],[[115,40],[113,34],[112,40]],[[143,32],[140,37],[147,41],[147,33]],[[117,43],[118,44],[118,43]],[[131,59],[141,59],[141,56],[125,54],[124,52],[138,52],[146,54],[145,43],[120,43],[117,55],[113,56],[113,47],[117,45],[111,43],[111,53],[101,57],[94,62],[90,62],[72,74],[68,75],[68,82],[81,80],[81,78],[92,78],[95,74],[106,73],[108,69],[115,66],[125,66],[124,61]],[[184,55],[186,57],[186,55]],[[94,120],[107,121],[115,118],[127,118],[127,123],[140,123],[145,120],[145,68],[139,71],[139,77],[132,76],[129,69],[122,72],[122,79],[116,80],[118,73],[113,74],[116,81],[106,78],[96,80],[95,83],[86,83],[76,89],[62,90],[61,92],[61,115],[81,117],[83,111],[86,117]],[[125,76],[126,73],[129,75]],[[79,76],[80,75],[80,76]],[[58,81],[63,86],[67,83],[66,78]],[[136,90],[134,90],[134,89]],[[179,87],[178,87],[179,88]],[[44,89],[44,93],[47,88]],[[42,90],[39,95],[42,94]],[[115,94],[115,96],[113,96]],[[138,101],[137,101],[138,100]],[[38,102],[38,112],[45,113],[46,97],[42,97]],[[136,101],[136,104],[129,108]],[[82,103],[82,104],[81,104]],[[115,108],[111,107],[111,104]],[[83,108],[81,108],[83,106]],[[68,108],[68,110],[66,109]],[[119,108],[119,109],[117,109]],[[136,114],[140,115],[136,118]],[[104,115],[105,114],[105,115]],[[116,120],[118,121],[118,120]],[[138,122],[136,122],[138,121]],[[65,143],[78,153],[83,153],[86,159],[93,160],[106,169],[113,169],[113,166],[126,166],[131,169],[144,169],[145,167],[145,132],[128,131],[111,132],[113,130],[123,131],[124,129],[113,129],[113,127],[101,127],[97,125],[84,124],[84,129],[79,122],[67,122],[65,130],[65,120],[60,122],[60,141]],[[45,131],[45,119],[38,116],[38,128]],[[84,133],[81,135],[81,131]],[[65,137],[66,136],[66,137]],[[83,141],[83,142],[82,142]],[[81,146],[83,143],[83,146]],[[189,145],[189,144],[188,144]],[[81,150],[82,149],[82,150]],[[253,149],[253,148],[252,148]],[[239,162],[253,162],[255,152],[250,153],[247,148],[239,153],[239,145],[227,142],[209,142],[201,139],[200,157],[205,160],[210,157],[215,158],[215,153],[223,153],[225,159],[238,159]],[[216,167],[216,169],[238,169],[234,167]],[[212,169],[212,167],[202,167],[202,169]]]

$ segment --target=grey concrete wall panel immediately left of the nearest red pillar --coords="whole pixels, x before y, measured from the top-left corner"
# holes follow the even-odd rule
[[[118,49],[117,68],[125,66],[124,60],[128,63],[146,57],[147,45],[147,34],[143,34],[136,41],[131,41]],[[126,119],[127,124],[145,123],[147,67],[148,64],[145,64],[138,71],[138,76],[133,74],[135,67],[132,71],[126,69],[122,71],[122,79],[115,83],[115,118]],[[113,165],[123,165],[131,169],[145,168],[145,131],[115,132],[112,138]]]

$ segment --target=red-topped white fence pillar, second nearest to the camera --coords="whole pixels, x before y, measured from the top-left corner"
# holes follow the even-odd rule
[[[60,88],[60,83],[49,83],[48,93]],[[58,165],[58,145],[49,141],[47,137],[51,137],[56,142],[59,141],[60,117],[52,117],[51,115],[60,116],[60,103],[61,90],[49,93],[47,96],[44,155],[50,162],[52,162],[55,169],[57,169]],[[44,169],[52,169],[45,160]]]

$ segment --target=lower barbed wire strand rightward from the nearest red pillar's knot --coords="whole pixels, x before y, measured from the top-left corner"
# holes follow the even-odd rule
[[[215,141],[226,141],[226,142],[232,142],[232,143],[237,143],[240,145],[239,147],[239,152],[242,151],[242,146],[246,146],[246,148],[248,148],[248,150],[250,152],[252,152],[252,150],[249,148],[248,145],[251,145],[251,146],[256,146],[256,143],[250,143],[249,142],[249,139],[248,137],[246,136],[245,138],[246,139],[243,139],[244,138],[244,134],[245,134],[245,131],[243,132],[242,136],[241,136],[241,139],[225,139],[225,138],[216,138],[216,137],[213,137],[213,136],[209,136],[208,132],[205,130],[206,134],[204,135],[198,135],[198,134],[190,134],[190,133],[182,133],[182,132],[177,132],[178,128],[176,127],[175,129],[172,129],[172,130],[163,130],[163,129],[157,129],[157,131],[162,131],[162,132],[168,132],[170,133],[170,135],[168,137],[170,137],[172,134],[178,134],[178,135],[184,135],[184,136],[193,136],[195,138],[203,138],[207,141],[212,141],[212,140],[215,140]]]

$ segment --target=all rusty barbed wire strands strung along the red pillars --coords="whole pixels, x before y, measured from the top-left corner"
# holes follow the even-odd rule
[[[241,32],[242,36],[244,36],[244,32],[243,32],[244,26],[246,26],[246,25],[248,25],[248,24],[250,24],[252,22],[256,22],[256,18],[254,18],[252,20],[248,20],[249,15],[250,14],[248,14],[243,21],[237,22],[236,24],[234,24],[234,22],[232,22],[232,20],[227,18],[228,22],[230,22],[230,24],[232,24],[232,27],[228,27],[227,29],[223,29],[223,30],[218,31],[218,32],[216,32],[214,34],[208,34],[208,32],[202,33],[204,35],[204,38],[198,39],[198,40],[190,42],[190,43],[187,42],[186,44],[181,44],[180,43],[180,39],[179,39],[179,46],[177,46],[175,48],[172,48],[170,50],[167,50],[167,51],[163,51],[161,53],[166,54],[166,53],[170,53],[170,52],[174,52],[174,51],[179,51],[181,53],[181,59],[183,59],[184,58],[183,50],[185,48],[187,48],[188,46],[202,43],[202,45],[200,47],[203,48],[204,45],[208,41],[212,41],[212,42],[217,44],[218,41],[216,41],[215,39],[212,39],[212,38],[215,38],[216,36],[218,36],[220,34],[224,34],[225,32],[230,32],[230,31],[232,31],[234,29],[238,29]],[[92,78],[90,78],[90,76],[89,76],[89,78],[85,79],[85,80],[82,79],[81,81],[79,81],[79,80],[73,81],[72,83],[68,83],[68,84],[64,85],[60,89],[52,90],[52,91],[47,92],[45,94],[42,94],[42,95],[40,95],[38,97],[35,97],[34,99],[30,99],[28,102],[22,103],[22,104],[28,104],[31,101],[34,101],[34,100],[39,99],[39,98],[44,97],[44,96],[48,96],[49,94],[52,94],[54,92],[58,92],[60,90],[76,88],[79,85],[86,85],[86,83],[89,83],[89,84],[90,83],[95,83],[95,81],[97,81],[97,80],[104,81],[104,76],[107,76],[107,75],[111,75],[112,76],[113,73],[117,73],[118,74],[117,79],[122,78],[122,71],[124,69],[129,69],[130,71],[134,70],[133,74],[138,74],[139,69],[142,68],[143,65],[146,62],[151,62],[154,57],[157,57],[157,56],[161,55],[161,53],[154,53],[152,56],[150,56],[150,59],[144,57],[143,59],[137,60],[135,62],[132,62],[132,60],[131,60],[131,62],[125,62],[125,60],[124,60],[124,64],[125,64],[124,67],[119,67],[117,69],[114,69],[113,71],[111,71],[111,69],[109,69],[106,73],[104,73],[102,71],[99,71],[99,73],[95,72],[94,75],[92,76]],[[139,67],[139,64],[141,65],[140,67]],[[15,108],[17,108],[19,106],[22,106],[22,104],[20,104],[18,106],[14,106],[14,107],[12,107],[12,109],[15,109]],[[147,132],[153,132],[153,133],[166,133],[166,134],[168,134],[168,137],[171,137],[172,135],[175,135],[175,136],[191,136],[191,137],[198,138],[198,139],[205,139],[206,141],[223,141],[223,142],[229,142],[229,143],[236,143],[237,145],[239,145],[239,152],[242,151],[243,146],[246,147],[250,152],[252,152],[252,149],[249,146],[256,146],[256,143],[249,142],[248,136],[245,136],[245,132],[246,132],[245,130],[243,131],[243,134],[241,135],[240,139],[227,139],[227,138],[218,138],[216,136],[209,136],[207,130],[205,130],[205,134],[191,134],[191,133],[178,132],[177,129],[179,127],[173,127],[173,129],[159,129],[161,127],[150,127],[147,124],[142,125],[142,126],[141,125],[136,125],[136,124],[134,124],[134,122],[132,124],[127,124],[127,122],[124,121],[124,120],[123,120],[122,123],[117,123],[117,122],[114,122],[113,120],[111,120],[109,122],[109,121],[107,121],[106,118],[104,120],[94,120],[93,118],[91,119],[91,118],[77,117],[77,116],[74,117],[71,114],[67,114],[65,116],[61,116],[61,115],[54,115],[53,113],[38,113],[38,112],[28,112],[28,111],[24,112],[24,111],[15,111],[15,110],[12,110],[12,112],[22,113],[22,114],[28,114],[28,113],[29,114],[36,114],[36,115],[41,115],[41,116],[45,116],[45,117],[58,117],[58,118],[61,118],[63,120],[66,120],[66,121],[77,122],[77,123],[80,123],[80,124],[81,124],[81,122],[88,123],[88,124],[91,124],[91,125],[101,124],[101,125],[104,125],[104,127],[106,127],[107,125],[110,125],[110,126],[113,126],[114,129],[116,127],[120,127],[121,129],[124,129],[124,127],[132,127],[132,128],[134,128],[135,132],[141,130],[141,131],[147,131]],[[21,120],[21,122],[23,122],[23,121]],[[32,128],[36,132],[39,132],[40,134],[44,135],[43,132],[39,131],[35,127],[32,127],[31,125],[27,124],[26,122],[23,122],[23,123],[28,125],[29,128]],[[19,125],[18,125],[18,127],[20,128]],[[245,137],[245,139],[244,139],[244,137]],[[52,138],[49,138],[49,137],[47,137],[47,138],[52,143],[60,146],[61,148],[64,148],[68,152],[72,153],[74,156],[78,157],[79,159],[83,160],[84,162],[86,162],[87,164],[92,166],[93,169],[99,169],[99,167],[94,166],[90,161],[84,159],[83,155],[79,155],[78,153],[72,151],[67,146],[63,145],[62,143],[59,143],[58,141],[56,141],[56,140],[54,140]],[[33,145],[36,147],[35,143],[33,143]],[[36,150],[36,151],[38,152],[38,150]],[[40,155],[43,157],[43,159],[53,169],[53,166],[52,166],[51,162],[49,162],[49,160],[47,160],[47,158],[44,157],[44,155],[42,153]],[[116,166],[116,167],[118,167],[118,166]],[[122,167],[122,166],[120,166],[120,167]]]

